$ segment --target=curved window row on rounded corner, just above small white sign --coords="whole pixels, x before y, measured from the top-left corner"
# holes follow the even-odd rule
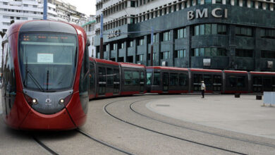
[[[209,47],[193,49],[192,56],[226,56],[226,49]]]

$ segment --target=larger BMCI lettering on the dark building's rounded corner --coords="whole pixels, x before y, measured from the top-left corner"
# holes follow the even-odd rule
[[[196,9],[196,11],[188,11],[187,19],[193,20],[195,18],[208,18],[209,14],[214,18],[228,18],[228,10],[222,8],[214,8],[211,13],[209,13],[208,8],[202,10]]]

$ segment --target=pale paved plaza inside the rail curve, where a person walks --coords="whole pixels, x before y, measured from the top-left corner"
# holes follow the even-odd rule
[[[275,106],[255,95],[182,95],[156,99],[147,108],[164,116],[214,128],[275,139]]]

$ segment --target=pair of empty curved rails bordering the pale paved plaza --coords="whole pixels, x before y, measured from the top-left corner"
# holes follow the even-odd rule
[[[169,125],[173,125],[175,127],[178,127],[178,128],[183,128],[185,130],[193,130],[195,132],[201,132],[203,134],[207,134],[207,135],[212,135],[212,136],[216,136],[216,137],[223,137],[223,138],[226,138],[226,139],[229,139],[229,140],[237,140],[237,141],[240,141],[240,142],[247,142],[247,143],[250,143],[250,144],[258,144],[258,145],[262,145],[262,146],[265,146],[265,147],[275,147],[274,145],[272,144],[263,144],[263,143],[260,143],[260,142],[254,142],[254,141],[250,141],[250,140],[242,140],[242,139],[239,139],[239,138],[236,138],[236,137],[229,137],[229,136],[225,136],[225,135],[219,135],[219,134],[216,134],[216,133],[212,133],[212,132],[207,132],[207,131],[203,131],[203,130],[197,130],[197,129],[194,129],[194,128],[188,128],[188,127],[185,127],[185,126],[181,126],[181,125],[175,125],[175,124],[172,124],[172,123],[167,123],[167,122],[164,122],[163,120],[158,120],[156,118],[151,118],[149,116],[145,116],[144,114],[142,113],[138,113],[137,111],[135,111],[133,109],[133,104],[139,102],[139,101],[146,101],[146,100],[151,100],[151,99],[159,99],[158,98],[150,98],[150,99],[142,99],[142,100],[138,100],[138,101],[133,101],[132,103],[130,103],[130,110],[137,113],[138,115],[140,116],[143,116],[145,118],[148,118],[148,119],[151,119],[151,120],[155,120],[155,121],[158,121],[160,123],[166,123],[166,124],[169,124]],[[190,143],[193,143],[193,144],[198,144],[198,145],[201,145],[201,146],[204,146],[204,147],[210,147],[210,148],[213,148],[213,149],[219,149],[219,150],[222,150],[222,151],[226,151],[226,152],[230,152],[230,153],[233,153],[233,154],[245,154],[245,153],[242,153],[240,151],[233,151],[231,149],[225,149],[223,147],[216,147],[212,144],[206,144],[206,143],[203,143],[203,142],[196,142],[194,140],[188,140],[188,138],[183,138],[183,137],[177,137],[177,136],[174,136],[174,135],[171,135],[171,134],[167,134],[167,133],[164,133],[164,132],[160,132],[160,131],[157,131],[157,130],[152,130],[150,128],[146,128],[142,125],[138,125],[138,124],[135,124],[135,123],[131,123],[130,121],[128,120],[124,120],[123,118],[119,118],[118,116],[115,116],[114,114],[112,114],[108,109],[107,107],[110,106],[111,104],[114,104],[118,101],[112,101],[110,102],[109,104],[106,104],[104,106],[104,111],[106,113],[109,114],[109,116],[113,117],[113,118],[116,118],[117,120],[123,122],[123,123],[127,123],[129,125],[133,125],[135,127],[138,127],[138,128],[142,128],[143,130],[147,130],[149,132],[154,132],[154,133],[157,133],[159,135],[164,135],[164,136],[167,136],[167,137],[171,137],[171,138],[174,138],[174,139],[177,139],[177,140],[183,140],[185,142],[190,142]]]

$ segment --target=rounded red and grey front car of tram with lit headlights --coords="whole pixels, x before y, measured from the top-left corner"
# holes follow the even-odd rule
[[[14,23],[4,36],[4,122],[24,130],[69,130],[86,120],[89,57],[82,27]]]

